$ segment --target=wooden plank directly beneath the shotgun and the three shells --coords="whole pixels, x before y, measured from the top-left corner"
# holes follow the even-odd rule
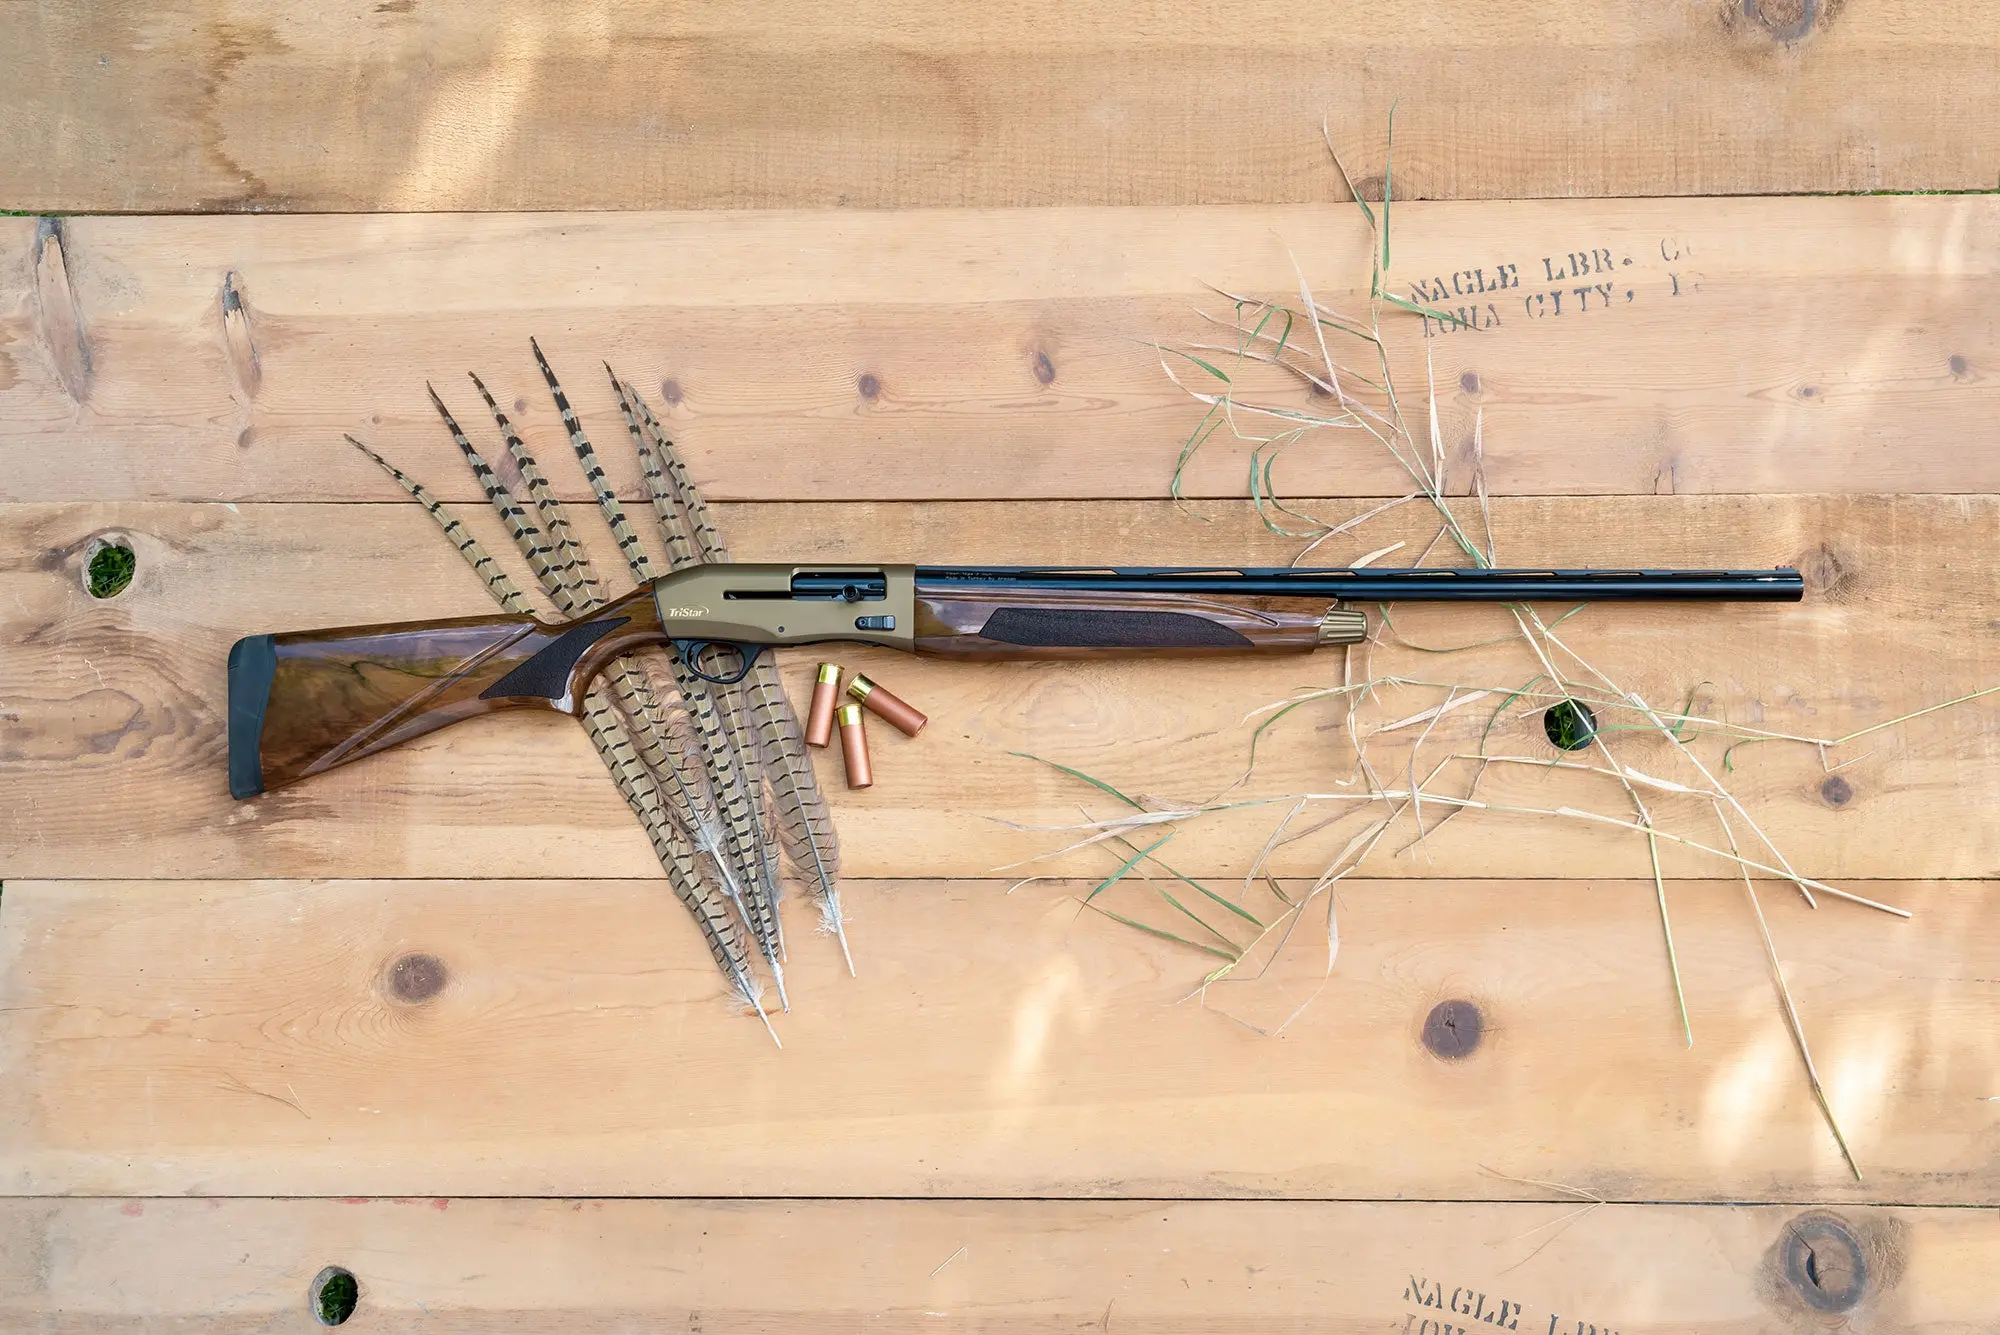
[[[1374,502],[1328,502],[1346,516]],[[1554,566],[1778,566],[1812,582],[1804,606],[1604,606],[1562,628],[1566,644],[1662,707],[1692,697],[1708,717],[1802,735],[1842,735],[2000,683],[1986,618],[1966,590],[1990,588],[1996,556],[1980,536],[2000,522],[1994,498],[1594,498],[1494,506],[1506,560]],[[482,514],[460,508],[474,524]],[[1338,562],[1434,536],[1404,506],[1326,544]],[[1250,562],[1282,564],[1296,542],[1264,534],[1248,506],[1206,506],[1210,522],[1164,502],[954,506],[726,506],[722,524],[746,560],[936,562]],[[588,528],[586,528],[588,526]],[[578,532],[610,546],[596,516]],[[84,590],[102,534],[138,554],[136,584],[110,602]],[[1346,546],[1340,546],[1346,544]],[[504,550],[494,538],[494,550]],[[1390,558],[1396,560],[1396,558]],[[0,660],[8,723],[0,739],[0,873],[102,875],[652,875],[656,863],[582,731],[550,717],[492,717],[446,729],[258,801],[224,789],[224,660],[244,634],[382,620],[470,616],[486,594],[412,504],[402,506],[20,506],[0,524]],[[1554,616],[1556,610],[1550,614]],[[1502,691],[1446,713],[1424,735],[1370,739],[1388,781],[1450,755],[1556,759],[1538,709],[1510,709],[1486,733],[1504,691],[1540,671],[1506,640],[1496,608],[1404,608],[1394,636],[1354,679],[1404,675]],[[1438,656],[1406,648],[1464,646]],[[784,656],[804,699],[816,654]],[[1342,681],[1342,656],[1274,662],[1128,662],[962,666],[842,646],[834,658],[874,673],[926,709],[916,739],[876,729],[876,787],[844,787],[822,755],[844,863],[856,875],[994,875],[1080,835],[1014,825],[1072,825],[1080,807],[1110,815],[1096,789],[1024,759],[1080,767],[1124,791],[1202,801],[1244,771],[1256,707],[1300,687]],[[1444,699],[1444,687],[1384,687],[1360,727],[1386,725]],[[1258,765],[1228,797],[1352,793],[1344,705],[1304,705],[1264,735]],[[1886,729],[1822,757],[1808,745],[1694,749],[1712,773],[1820,877],[1992,875],[2000,831],[1978,811],[2000,801],[1992,701]],[[1638,719],[1606,719],[1630,725]],[[1652,735],[1614,733],[1624,763],[1700,783]],[[1840,765],[1828,773],[1826,765]],[[1462,761],[1434,791],[1470,783]],[[1534,807],[1630,811],[1616,781],[1590,773],[1494,767],[1480,793]],[[1716,843],[1694,797],[1650,793],[1660,827]],[[1290,805],[1242,807],[1184,821],[1170,849],[1190,873],[1242,877]],[[1272,855],[1282,875],[1316,875],[1374,815],[1330,797],[1292,825],[1338,825]],[[1430,823],[1442,807],[1432,809]],[[1644,839],[1566,817],[1468,813],[1422,855],[1414,813],[1368,867],[1378,875],[1650,875]],[[1670,875],[1730,875],[1716,857],[1668,845]],[[1098,845],[1018,871],[1104,875]]]

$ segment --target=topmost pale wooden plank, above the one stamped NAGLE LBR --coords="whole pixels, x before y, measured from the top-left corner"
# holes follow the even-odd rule
[[[1992,188],[1984,10],[54,6],[12,20],[0,196],[58,212]],[[1942,96],[1950,90],[1950,96]]]

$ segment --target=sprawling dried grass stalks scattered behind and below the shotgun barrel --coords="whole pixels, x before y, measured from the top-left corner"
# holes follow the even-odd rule
[[[1330,140],[1328,140],[1328,152],[1332,154]],[[1348,180],[1352,194],[1352,182],[1348,178],[1346,168],[1340,164],[1338,156],[1334,156],[1334,168],[1340,172],[1342,180]],[[1440,326],[1452,326],[1456,322],[1446,312],[1404,300],[1388,290],[1386,286],[1386,268],[1390,260],[1388,198],[1390,198],[1390,184],[1388,184],[1388,174],[1384,172],[1384,204],[1380,208],[1380,214],[1372,210],[1368,202],[1360,200],[1358,196],[1354,200],[1370,230],[1372,242],[1378,242],[1370,246],[1370,284],[1368,284],[1366,316],[1360,318],[1346,316],[1320,302],[1314,296],[1312,286],[1308,284],[1304,272],[1298,268],[1294,260],[1294,272],[1298,274],[1296,304],[1290,296],[1286,296],[1284,300],[1270,300],[1256,296],[1240,296],[1224,292],[1222,288],[1214,288],[1214,292],[1222,300],[1230,302],[1230,306],[1234,308],[1232,316],[1222,318],[1210,312],[1202,312],[1202,318],[1214,326],[1232,330],[1236,336],[1234,344],[1204,342],[1204,344],[1190,344],[1188,348],[1164,348],[1160,344],[1154,344],[1160,358],[1160,368],[1166,374],[1166,378],[1172,384],[1180,386],[1196,404],[1202,404],[1204,408],[1200,422],[1196,422],[1186,442],[1182,442],[1174,466],[1170,494],[1174,496],[1176,502],[1184,500],[1182,476],[1188,464],[1200,450],[1208,448],[1214,442],[1218,432],[1228,432],[1234,440],[1246,444],[1250,450],[1248,492],[1264,528],[1274,534],[1308,540],[1308,544],[1300,550],[1298,558],[1294,558],[1294,564],[1298,564],[1298,560],[1302,560],[1306,554],[1316,552],[1318,548],[1322,548],[1322,544],[1328,544],[1334,538],[1352,536],[1358,540],[1360,530],[1364,530],[1364,526],[1376,516],[1422,498],[1436,510],[1440,520],[1438,538],[1432,540],[1434,548],[1448,540],[1446,550],[1456,548],[1460,558],[1470,562],[1472,566],[1492,566],[1496,560],[1496,542],[1492,528],[1492,508],[1488,500],[1484,418],[1476,416],[1472,424],[1472,478],[1470,482],[1458,484],[1478,502],[1480,538],[1482,538],[1480,542],[1474,540],[1474,536],[1460,522],[1454,508],[1454,496],[1450,494],[1450,482],[1446,478],[1450,452],[1444,448],[1444,434],[1438,418],[1436,384],[1432,382],[1432,368],[1428,360],[1430,344],[1426,344],[1426,366],[1424,366],[1426,370],[1424,412],[1416,428],[1412,428],[1410,416],[1404,414],[1402,396],[1398,394],[1396,388],[1396,376],[1390,366],[1388,342],[1384,340],[1382,334],[1384,314],[1392,312],[1416,314],[1426,322],[1436,320]],[[1354,366],[1348,364],[1350,356],[1370,364],[1372,374],[1356,372]],[[1242,386],[1238,386],[1236,378],[1232,376],[1232,372],[1238,370],[1238,366],[1232,364],[1230,358],[1234,358],[1240,364],[1280,368],[1288,372],[1300,386],[1308,388],[1312,394],[1306,396],[1304,404],[1298,404],[1280,398],[1260,396],[1256,392],[1246,392]],[[1334,436],[1324,436],[1326,432],[1334,432]],[[1408,492],[1408,496],[1384,502],[1374,510],[1368,510],[1340,524],[1328,524],[1324,520],[1300,512],[1294,506],[1288,506],[1272,488],[1272,466],[1284,452],[1298,448],[1302,442],[1310,438],[1322,438],[1322,436],[1336,444],[1368,440],[1374,446],[1386,450],[1390,458],[1410,478],[1412,490]],[[1306,528],[1298,528],[1298,522],[1304,522]],[[1356,558],[1356,562],[1352,564],[1364,564],[1376,560],[1392,550],[1394,544],[1388,548],[1378,548],[1374,552],[1368,552],[1366,556]],[[1424,554],[1418,556],[1416,564],[1422,566],[1428,560],[1430,560],[1430,548],[1426,548]],[[1324,558],[1320,558],[1320,564],[1326,564]],[[1752,915],[1758,923],[1766,955],[1770,957],[1774,985],[1778,989],[1786,1023],[1796,1043],[1804,1073],[1812,1087],[1812,1095],[1826,1117],[1828,1129],[1832,1131],[1834,1139],[1840,1145],[1840,1153],[1846,1157],[1856,1177],[1860,1177],[1860,1169],[1848,1147],[1846,1135],[1834,1121],[1832,1105],[1826,1097],[1824,1087],[1820,1085],[1812,1053],[1806,1047],[1804,1023],[1798,1017],[1798,1009],[1792,1003],[1790,989],[1784,985],[1784,975],[1778,969],[1776,949],[1770,945],[1770,931],[1762,915],[1762,905],[1756,899],[1752,873],[1792,883],[1810,905],[1816,905],[1814,893],[1820,893],[1820,895],[1848,899],[1852,903],[1874,907],[1886,913],[1896,913],[1902,917],[1908,917],[1908,913],[1900,907],[1880,903],[1864,895],[1828,885],[1820,879],[1802,875],[1794,867],[1794,863],[1786,857],[1786,853],[1764,831],[1764,827],[1744,809],[1744,803],[1738,801],[1738,797],[1730,791],[1728,783],[1724,783],[1724,779],[1720,777],[1718,767],[1704,761],[1696,753],[1692,743],[1702,737],[1722,737],[1730,743],[1732,749],[1736,745],[1754,741],[1806,743],[1818,747],[1822,765],[1834,769],[1838,765],[1834,765],[1828,755],[1832,747],[1838,747],[1846,741],[1878,731],[1880,727],[1920,717],[1924,713],[1930,713],[1932,709],[1942,709],[1956,703],[1980,699],[1988,693],[2000,691],[2000,685],[1982,691],[1972,691],[1958,699],[1930,705],[1926,709],[1916,709],[1896,719],[1856,729],[1842,737],[1806,737],[1782,731],[1732,725],[1720,719],[1698,715],[1692,709],[1694,701],[1692,693],[1688,697],[1688,707],[1680,711],[1656,707],[1638,693],[1624,689],[1596,664],[1578,654],[1568,640],[1558,636],[1554,628],[1564,618],[1558,618],[1556,622],[1544,622],[1542,616],[1530,606],[1512,606],[1510,614],[1514,618],[1512,636],[1506,636],[1502,640],[1480,640],[1468,646],[1430,648],[1404,642],[1396,634],[1394,624],[1388,618],[1388,610],[1384,608],[1382,634],[1390,636],[1394,644],[1424,654],[1456,654],[1466,648],[1520,644],[1528,652],[1528,658],[1538,668],[1538,673],[1526,685],[1508,687],[1508,685],[1476,683],[1464,679],[1420,681],[1418,677],[1370,675],[1366,671],[1358,673],[1360,679],[1356,679],[1356,673],[1352,671],[1354,660],[1356,656],[1372,652],[1374,646],[1370,640],[1368,644],[1356,646],[1354,650],[1348,652],[1342,666],[1342,681],[1338,685],[1300,691],[1290,699],[1264,705],[1262,709],[1254,709],[1246,717],[1246,721],[1250,721],[1250,717],[1266,715],[1258,721],[1256,729],[1252,731],[1250,761],[1248,767],[1244,769],[1244,775],[1238,777],[1228,789],[1224,789],[1226,793],[1234,791],[1236,787],[1248,781],[1250,771],[1256,767],[1258,743],[1266,739],[1266,731],[1272,725],[1276,725],[1282,717],[1290,715],[1294,709],[1300,709],[1312,701],[1330,701],[1344,709],[1346,713],[1344,727],[1350,745],[1354,749],[1354,775],[1350,779],[1342,779],[1342,785],[1360,783],[1362,787],[1358,791],[1282,793],[1272,797],[1234,799],[1234,801],[1224,801],[1216,797],[1204,803],[1184,803],[1172,807],[1166,807],[1164,803],[1140,805],[1132,803],[1130,799],[1124,799],[1130,803],[1132,809],[1116,811],[1114,815],[1102,819],[1086,815],[1086,819],[1080,823],[1052,827],[1082,835],[1080,839],[1068,841],[1064,849],[1056,851],[1070,851],[1078,847],[1088,847],[1092,843],[1114,843],[1124,833],[1132,833],[1138,829],[1146,829],[1154,833],[1154,837],[1164,841],[1174,835],[1174,831],[1180,827],[1182,821],[1198,819],[1212,811],[1240,809],[1246,805],[1264,805],[1264,803],[1282,807],[1284,815],[1278,821],[1278,827],[1272,831],[1272,837],[1266,841],[1250,873],[1246,873],[1244,877],[1244,885],[1248,889],[1250,883],[1260,873],[1264,873],[1264,865],[1266,859],[1270,857],[1270,851],[1278,847],[1280,841],[1300,837],[1298,833],[1288,833],[1288,829],[1292,829],[1294,821],[1304,813],[1308,805],[1332,807],[1336,815],[1328,819],[1340,819],[1338,813],[1352,809],[1368,809],[1372,805],[1380,805],[1382,809],[1386,809],[1384,815],[1380,815],[1374,823],[1364,827],[1358,835],[1354,835],[1348,841],[1348,845],[1340,851],[1338,857],[1334,857],[1326,865],[1322,875],[1314,881],[1312,889],[1304,897],[1298,899],[1288,897],[1284,895],[1284,891],[1272,885],[1274,893],[1278,893],[1286,905],[1284,913],[1280,913],[1280,917],[1270,927],[1266,927],[1256,941],[1238,949],[1234,959],[1226,961],[1218,969],[1212,969],[1202,979],[1202,987],[1198,991],[1206,993],[1206,989],[1212,983],[1228,979],[1244,961],[1244,957],[1248,957],[1254,949],[1258,949],[1264,943],[1264,937],[1280,933],[1282,939],[1282,933],[1286,933],[1290,929],[1290,923],[1296,921],[1296,913],[1306,903],[1310,903],[1314,895],[1330,893],[1332,883],[1346,877],[1362,863],[1362,859],[1370,857],[1378,849],[1384,833],[1394,823],[1398,823],[1406,813],[1416,825],[1416,837],[1404,843],[1398,849],[1398,853],[1408,853],[1422,847],[1426,839],[1436,835],[1442,823],[1446,823],[1452,815],[1458,815],[1462,811],[1492,811],[1516,817],[1578,821],[1578,823],[1628,829],[1646,837],[1648,861],[1652,867],[1652,881],[1654,881],[1654,905],[1660,915],[1660,933],[1666,947],[1664,951],[1666,965],[1674,983],[1674,1001],[1682,1035],[1690,1045],[1694,1041],[1694,1031],[1688,1019],[1688,1001],[1680,977],[1680,957],[1674,945],[1672,923],[1668,919],[1666,875],[1660,863],[1660,843],[1662,841],[1678,843],[1682,847],[1718,857],[1730,863],[1730,867],[1744,879],[1744,885],[1750,891]],[[1394,721],[1388,723],[1378,723],[1372,729],[1364,729],[1358,723],[1360,711],[1372,705],[1386,687],[1396,687],[1396,685],[1436,687],[1444,691],[1444,699],[1422,711],[1408,713],[1406,717],[1396,717]],[[1438,719],[1452,709],[1458,709],[1488,695],[1500,695],[1500,703],[1492,711],[1492,717],[1486,723],[1486,731],[1480,737],[1478,749],[1476,751],[1456,749],[1444,759],[1440,759],[1430,769],[1428,775],[1420,777],[1416,753],[1430,737],[1430,731],[1438,725]],[[1542,705],[1558,705],[1558,707],[1570,705],[1572,709],[1588,707],[1592,711],[1628,715],[1632,717],[1632,723],[1618,723],[1614,727],[1596,727],[1590,731],[1588,745],[1592,751],[1596,751],[1596,759],[1602,763],[1488,753],[1486,741],[1494,733],[1494,727],[1502,717],[1502,713],[1506,713],[1516,705],[1530,705],[1530,703],[1536,707]],[[1416,725],[1424,725],[1424,731],[1418,735],[1416,745],[1412,745],[1408,761],[1404,765],[1406,769],[1404,785],[1392,789],[1384,785],[1380,781],[1380,775],[1376,773],[1376,765],[1370,759],[1370,743],[1374,743],[1384,733],[1396,733]],[[1634,769],[1614,749],[1612,737],[1608,735],[1620,729],[1640,731],[1646,737],[1662,739],[1668,755],[1672,755],[1672,759],[1678,763],[1684,775],[1658,777]],[[1728,771],[1728,755],[1730,753],[1724,751],[1724,763],[1720,765],[1724,773]],[[1472,773],[1462,791],[1448,793],[1432,787],[1438,775],[1444,773],[1448,767],[1456,769],[1468,763],[1472,765]],[[1536,807],[1536,805],[1500,803],[1476,797],[1474,793],[1478,791],[1480,781],[1488,773],[1490,765],[1496,763],[1538,763],[1548,767],[1600,775],[1604,779],[1610,779],[1616,785],[1616,789],[1622,791],[1624,801],[1630,805],[1632,817],[1628,819],[1622,815],[1608,815],[1604,811],[1574,807],[1574,805]],[[1080,773],[1076,769],[1068,769],[1066,765],[1058,767],[1096,785],[1106,793],[1112,793],[1114,797],[1122,797],[1122,793],[1118,793],[1110,783],[1098,777]],[[1656,819],[1656,813],[1650,809],[1646,793],[1700,797],[1716,813],[1716,817],[1722,819],[1724,831],[1728,833],[1728,847],[1718,849],[1694,837],[1688,837],[1686,833],[1664,827],[1662,821]],[[1432,805],[1442,807],[1444,817],[1430,819],[1426,823],[1424,807]],[[1742,821],[1742,825],[1752,833],[1754,841],[1762,845],[1762,849],[1756,849],[1758,851],[1756,857],[1744,855],[1744,851],[1738,847],[1732,821]],[[1318,821],[1310,825],[1308,833],[1310,829],[1318,829],[1324,823],[1328,821]],[[1098,889],[1100,891],[1108,889],[1130,869],[1132,863],[1114,873],[1114,877],[1106,881],[1106,885],[1100,885]],[[1094,891],[1094,895],[1098,891]],[[1328,909],[1332,911],[1332,903],[1328,903]],[[1132,921],[1134,925],[1140,925],[1156,935],[1168,935],[1150,923],[1136,919]],[[1330,951],[1328,951],[1328,969],[1330,969],[1334,961],[1334,945],[1338,943],[1332,917],[1328,921],[1328,941],[1330,941]]]

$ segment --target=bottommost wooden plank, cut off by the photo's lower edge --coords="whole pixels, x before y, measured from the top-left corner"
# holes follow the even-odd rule
[[[0,1313],[50,1335],[314,1329],[1986,1329],[1976,1211],[1282,1201],[6,1201]],[[1804,1259],[1814,1257],[1812,1273]],[[1840,1263],[1860,1257],[1854,1271]],[[1436,1301],[1438,1305],[1428,1305]],[[1456,1301],[1456,1311],[1454,1311]],[[1430,1321],[1430,1327],[1424,1327]]]

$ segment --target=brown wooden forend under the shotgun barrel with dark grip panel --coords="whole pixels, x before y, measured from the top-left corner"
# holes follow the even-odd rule
[[[916,652],[944,658],[1304,654],[1364,632],[1324,598],[916,586]]]

